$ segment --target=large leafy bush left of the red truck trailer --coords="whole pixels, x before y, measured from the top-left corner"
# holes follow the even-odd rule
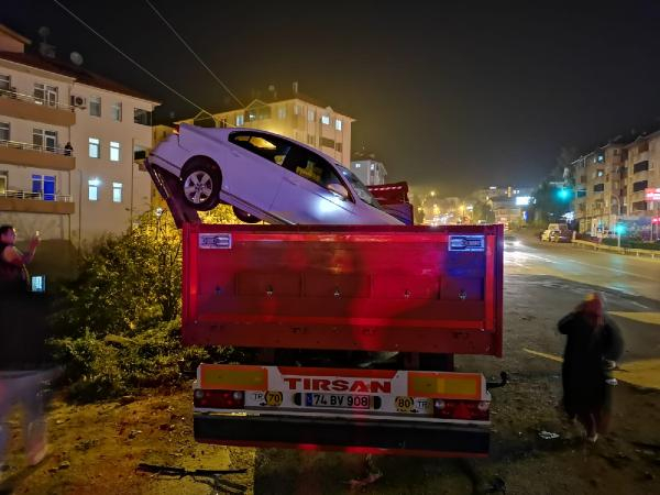
[[[229,213],[211,220],[231,221]],[[78,274],[61,289],[51,339],[72,398],[170,386],[202,361],[237,358],[231,349],[180,344],[180,234],[167,211],[103,239],[82,256]]]

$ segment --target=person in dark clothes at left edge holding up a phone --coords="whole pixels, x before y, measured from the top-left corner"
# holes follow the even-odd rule
[[[23,438],[28,462],[38,464],[47,450],[41,383],[50,373],[42,367],[45,354],[45,301],[29,292],[25,265],[32,261],[38,235],[26,253],[15,245],[12,226],[0,226],[0,465],[10,439],[7,415],[23,406]]]

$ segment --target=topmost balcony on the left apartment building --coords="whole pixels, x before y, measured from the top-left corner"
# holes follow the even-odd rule
[[[0,89],[0,116],[51,125],[70,127],[76,123],[76,112],[70,105],[48,102],[11,89]]]

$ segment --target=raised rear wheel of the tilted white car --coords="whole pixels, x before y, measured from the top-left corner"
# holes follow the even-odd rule
[[[184,167],[182,187],[186,202],[198,211],[212,210],[220,202],[220,170],[218,166],[196,160]]]

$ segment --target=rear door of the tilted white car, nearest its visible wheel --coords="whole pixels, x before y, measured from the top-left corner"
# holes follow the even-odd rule
[[[223,170],[228,188],[223,186],[223,191],[270,211],[282,182],[288,141],[257,131],[237,131],[229,142],[230,166]]]

